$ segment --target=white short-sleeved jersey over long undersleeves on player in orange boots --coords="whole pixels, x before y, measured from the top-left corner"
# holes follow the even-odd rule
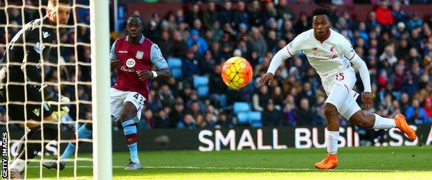
[[[345,37],[332,29],[330,37],[323,42],[315,38],[314,29],[311,29],[298,35],[285,47],[291,56],[297,51],[303,51],[323,84],[333,81],[335,75],[342,71],[351,69],[354,73],[349,61],[355,55],[354,49]]]

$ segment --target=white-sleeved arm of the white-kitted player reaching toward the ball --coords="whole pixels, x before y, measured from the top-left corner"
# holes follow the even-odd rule
[[[287,60],[291,55],[289,55],[287,48],[284,47],[276,53],[273,58],[271,59],[269,69],[267,69],[267,73],[262,75],[260,80],[258,81],[258,87],[261,87],[262,85],[266,84],[270,80],[273,80],[273,75],[276,73],[276,70],[278,70],[279,66],[282,64],[284,60]]]

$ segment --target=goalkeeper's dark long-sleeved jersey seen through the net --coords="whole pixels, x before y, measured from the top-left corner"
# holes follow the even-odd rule
[[[1,60],[0,102],[10,102],[6,105],[6,109],[9,109],[9,118],[11,120],[42,120],[42,118],[52,114],[51,107],[46,103],[42,105],[42,90],[45,95],[51,94],[53,91],[51,88],[39,84],[42,82],[42,60],[48,60],[51,51],[51,45],[44,43],[52,44],[56,37],[54,29],[45,27],[45,25],[49,25],[46,17],[26,24],[12,38],[7,46],[8,50],[6,50]],[[24,48],[26,51],[24,51]],[[7,65],[7,62],[15,64]],[[26,62],[34,64],[26,64]],[[25,82],[24,71],[26,72],[27,82],[38,82],[37,85],[9,83],[6,88],[8,77],[9,82]],[[15,103],[26,101],[33,103],[26,105]]]

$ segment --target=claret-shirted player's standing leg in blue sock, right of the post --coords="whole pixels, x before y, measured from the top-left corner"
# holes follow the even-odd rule
[[[137,134],[136,125],[134,123],[134,117],[136,116],[137,109],[132,102],[125,102],[122,109],[120,110],[120,122],[123,126],[123,132],[126,137],[127,147],[130,152],[130,162],[125,170],[139,170],[141,169],[141,163],[138,159],[138,145],[137,145]]]

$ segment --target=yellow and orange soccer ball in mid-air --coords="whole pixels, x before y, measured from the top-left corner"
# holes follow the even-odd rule
[[[242,88],[252,79],[252,66],[243,57],[231,57],[224,62],[221,75],[228,87]]]

